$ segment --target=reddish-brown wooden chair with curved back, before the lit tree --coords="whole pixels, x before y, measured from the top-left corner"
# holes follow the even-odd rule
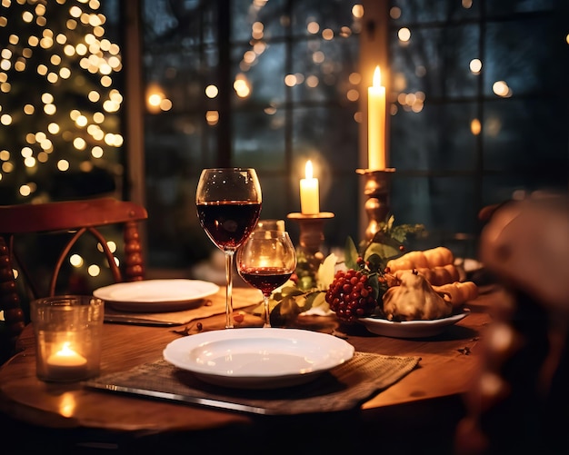
[[[111,197],[0,206],[0,311],[4,311],[5,319],[4,330],[0,330],[0,364],[14,350],[15,339],[27,322],[21,290],[29,299],[55,295],[65,258],[85,232],[92,234],[101,245],[114,282],[143,280],[145,264],[138,222],[147,218],[144,207]],[[113,224],[123,228],[125,258],[121,267],[115,263],[101,232],[103,227]],[[50,232],[67,233],[63,250],[55,254],[55,265],[50,265],[47,290],[42,291],[17,244],[25,235],[34,234],[39,238]],[[42,248],[42,243],[37,244]],[[17,280],[14,271],[19,275]]]

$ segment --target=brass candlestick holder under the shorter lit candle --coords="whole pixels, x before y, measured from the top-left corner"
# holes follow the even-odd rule
[[[321,252],[324,243],[324,222],[334,218],[334,213],[321,212],[314,215],[304,213],[289,213],[289,220],[294,220],[300,226],[300,247],[296,274],[301,288],[311,289],[316,283],[316,273],[324,260]]]

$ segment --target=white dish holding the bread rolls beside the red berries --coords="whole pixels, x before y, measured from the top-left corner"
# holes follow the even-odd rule
[[[463,320],[468,312],[461,312],[448,318],[432,319],[428,321],[387,321],[380,318],[360,318],[368,331],[377,335],[392,338],[424,338],[439,335],[450,325]]]

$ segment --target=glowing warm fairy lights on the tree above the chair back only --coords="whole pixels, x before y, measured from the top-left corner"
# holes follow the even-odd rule
[[[0,184],[17,174],[10,183],[18,181],[18,196],[41,199],[36,177],[89,172],[122,146],[123,96],[113,87],[120,48],[105,38],[98,0],[2,0],[2,7]]]

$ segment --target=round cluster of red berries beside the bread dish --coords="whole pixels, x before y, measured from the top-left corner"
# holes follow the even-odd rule
[[[325,299],[336,316],[347,322],[370,316],[377,304],[368,274],[354,269],[336,272]]]

